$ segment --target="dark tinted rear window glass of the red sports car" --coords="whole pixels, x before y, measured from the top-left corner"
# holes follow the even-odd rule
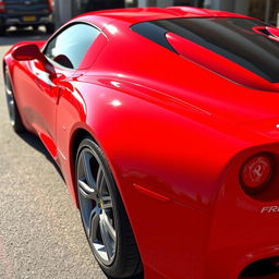
[[[279,43],[254,32],[256,26],[267,25],[240,17],[198,17],[144,22],[132,29],[172,51],[166,33],[174,33],[278,83]]]

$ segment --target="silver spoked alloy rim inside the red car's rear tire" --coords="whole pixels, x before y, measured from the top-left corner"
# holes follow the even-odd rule
[[[83,148],[77,160],[81,215],[93,252],[106,266],[113,263],[118,243],[110,189],[110,180],[97,154]]]

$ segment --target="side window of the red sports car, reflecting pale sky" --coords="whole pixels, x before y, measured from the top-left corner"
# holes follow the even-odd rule
[[[71,25],[48,43],[44,53],[63,66],[78,69],[84,56],[99,34],[97,28],[88,24]]]

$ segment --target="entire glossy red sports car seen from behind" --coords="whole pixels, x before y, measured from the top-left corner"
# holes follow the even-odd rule
[[[36,133],[112,278],[279,278],[279,29],[185,7],[87,13],[15,45]]]

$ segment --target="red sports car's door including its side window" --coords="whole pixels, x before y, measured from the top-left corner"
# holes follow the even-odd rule
[[[56,125],[60,93],[72,90],[71,78],[80,70],[85,53],[99,34],[89,24],[70,24],[45,46],[43,52],[47,63],[29,63],[36,83],[36,89],[31,93],[36,114],[33,125],[53,158],[57,157]]]

